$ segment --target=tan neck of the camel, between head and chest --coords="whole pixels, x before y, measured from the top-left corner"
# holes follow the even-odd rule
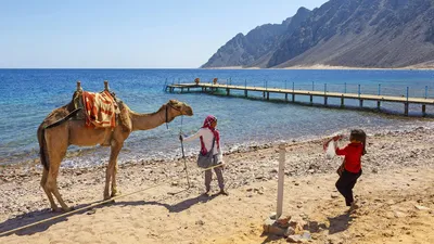
[[[151,114],[130,112],[132,130],[150,130],[166,123],[166,106]]]

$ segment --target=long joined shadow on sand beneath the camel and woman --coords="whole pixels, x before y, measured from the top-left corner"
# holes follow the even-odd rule
[[[30,234],[35,234],[37,232],[42,232],[46,231],[49,227],[59,223],[59,222],[63,222],[63,221],[67,221],[67,217],[73,216],[73,215],[81,215],[85,213],[89,213],[92,214],[92,210],[98,209],[98,208],[103,208],[107,205],[123,205],[123,206],[138,206],[138,205],[157,205],[157,206],[164,206],[166,207],[170,213],[180,213],[183,211],[188,208],[190,208],[192,205],[197,204],[197,203],[206,203],[213,198],[215,198],[218,194],[216,195],[212,195],[212,196],[204,196],[204,195],[199,195],[196,197],[193,198],[189,198],[189,200],[184,200],[178,204],[175,205],[169,205],[169,204],[165,204],[165,203],[159,203],[156,201],[152,201],[152,202],[145,202],[145,201],[130,201],[130,202],[111,202],[111,203],[105,203],[105,204],[101,204],[98,206],[94,206],[92,208],[87,208],[87,209],[82,209],[79,210],[80,208],[85,208],[88,207],[92,204],[102,202],[102,201],[97,201],[90,204],[80,204],[75,206],[76,209],[78,209],[78,211],[55,218],[56,216],[63,215],[65,213],[53,213],[51,211],[50,208],[46,208],[43,210],[36,210],[36,211],[30,211],[30,213],[26,213],[20,216],[16,216],[12,219],[8,219],[7,221],[0,223],[0,237],[1,236],[7,236],[10,234],[17,234],[17,235],[30,235]],[[66,213],[67,214],[67,213]],[[50,218],[55,218],[52,220],[49,220]],[[43,220],[48,220],[46,222],[41,222],[38,223],[36,226],[31,226],[28,228],[25,228],[23,230],[18,230],[12,233],[8,233],[8,234],[3,234],[8,231],[21,228],[21,227],[25,227],[28,224],[35,224],[37,222],[43,221]]]

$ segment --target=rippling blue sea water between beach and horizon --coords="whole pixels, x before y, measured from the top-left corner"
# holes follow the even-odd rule
[[[310,107],[305,105],[260,101],[261,93],[250,95],[256,100],[226,98],[201,93],[166,93],[167,82],[191,82],[195,77],[221,82],[247,86],[267,86],[303,90],[344,91],[362,93],[406,95],[407,87],[412,97],[434,98],[434,73],[431,70],[208,70],[208,69],[0,69],[0,165],[38,158],[36,130],[43,118],[55,107],[68,103],[76,89],[76,80],[88,91],[103,90],[103,80],[110,81],[111,90],[131,110],[151,113],[177,99],[189,103],[193,117],[176,118],[167,130],[165,125],[133,132],[126,141],[119,162],[180,156],[177,140],[179,130],[194,132],[208,114],[218,117],[226,150],[240,146],[303,140],[361,127],[368,132],[432,126],[431,119],[414,119],[366,111]],[[229,81],[230,80],[230,81]],[[324,87],[327,84],[327,88]],[[427,90],[425,87],[427,86]],[[237,92],[234,92],[237,93]],[[239,92],[239,94],[243,94]],[[283,99],[271,95],[271,99]],[[308,98],[297,98],[308,101]],[[322,99],[314,100],[322,103]],[[329,104],[339,104],[329,99]],[[357,101],[347,101],[357,106]],[[374,107],[374,102],[365,102]],[[388,112],[401,113],[403,104],[383,104]],[[412,115],[420,114],[419,106],[411,106]],[[434,107],[427,106],[433,115]],[[181,126],[182,120],[182,126]],[[187,154],[195,153],[199,142],[186,145]],[[89,166],[107,160],[108,149],[78,149],[82,156],[68,157],[65,166]]]

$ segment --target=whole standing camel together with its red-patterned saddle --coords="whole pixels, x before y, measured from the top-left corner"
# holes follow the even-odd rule
[[[111,147],[104,185],[104,200],[107,200],[117,194],[117,156],[124,141],[132,131],[153,129],[170,123],[177,116],[193,115],[188,104],[176,100],[169,100],[154,113],[136,113],[110,92],[108,82],[104,81],[104,91],[93,93],[84,91],[78,81],[72,101],[52,111],[38,128],[40,160],[43,165],[40,184],[53,210],[59,210],[53,196],[63,210],[71,210],[64,203],[56,182],[61,162],[69,145],[100,144]]]

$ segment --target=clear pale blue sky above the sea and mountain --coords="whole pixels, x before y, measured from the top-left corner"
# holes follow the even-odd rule
[[[0,0],[0,68],[194,68],[237,34],[324,2]]]

